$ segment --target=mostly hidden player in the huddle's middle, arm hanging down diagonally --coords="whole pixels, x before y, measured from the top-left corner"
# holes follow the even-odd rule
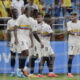
[[[33,9],[32,11],[32,19],[34,19],[34,24],[32,26],[33,30],[33,43],[34,43],[34,47],[29,49],[29,63],[28,63],[28,67],[30,68],[30,74],[28,75],[29,77],[38,77],[36,75],[34,75],[34,67],[35,67],[35,61],[37,60],[38,57],[40,57],[40,48],[43,47],[43,45],[41,44],[41,41],[37,35],[37,13],[38,10],[37,9]],[[38,45],[38,44],[39,45]],[[40,46],[40,48],[37,48],[38,46]]]

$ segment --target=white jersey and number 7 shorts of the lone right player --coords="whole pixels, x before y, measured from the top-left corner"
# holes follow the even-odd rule
[[[67,23],[68,31],[72,31],[73,33],[80,33],[80,21],[77,20],[77,23],[73,23],[69,21]],[[80,36],[70,35],[69,34],[69,55],[77,55],[80,54]]]

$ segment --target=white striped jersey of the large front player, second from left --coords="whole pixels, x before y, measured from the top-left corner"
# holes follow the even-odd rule
[[[35,31],[34,27],[32,27],[34,26],[34,19],[31,17],[27,17],[26,15],[21,15],[16,22],[16,26],[19,26],[18,40],[26,42],[29,46],[29,43],[31,42],[29,34],[31,31]]]

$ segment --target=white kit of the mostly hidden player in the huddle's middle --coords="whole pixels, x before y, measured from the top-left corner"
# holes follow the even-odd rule
[[[33,19],[33,18],[32,18]],[[33,19],[34,20],[34,23],[32,25],[32,31],[36,31],[37,32],[37,20]],[[33,44],[34,44],[34,47],[33,48],[30,48],[29,49],[29,56],[36,56],[38,55],[38,57],[40,57],[40,43],[36,40],[36,38],[33,36]]]

